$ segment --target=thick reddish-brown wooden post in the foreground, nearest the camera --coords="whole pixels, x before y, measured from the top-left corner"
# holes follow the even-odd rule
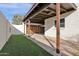
[[[60,3],[56,3],[56,53],[60,53]]]

